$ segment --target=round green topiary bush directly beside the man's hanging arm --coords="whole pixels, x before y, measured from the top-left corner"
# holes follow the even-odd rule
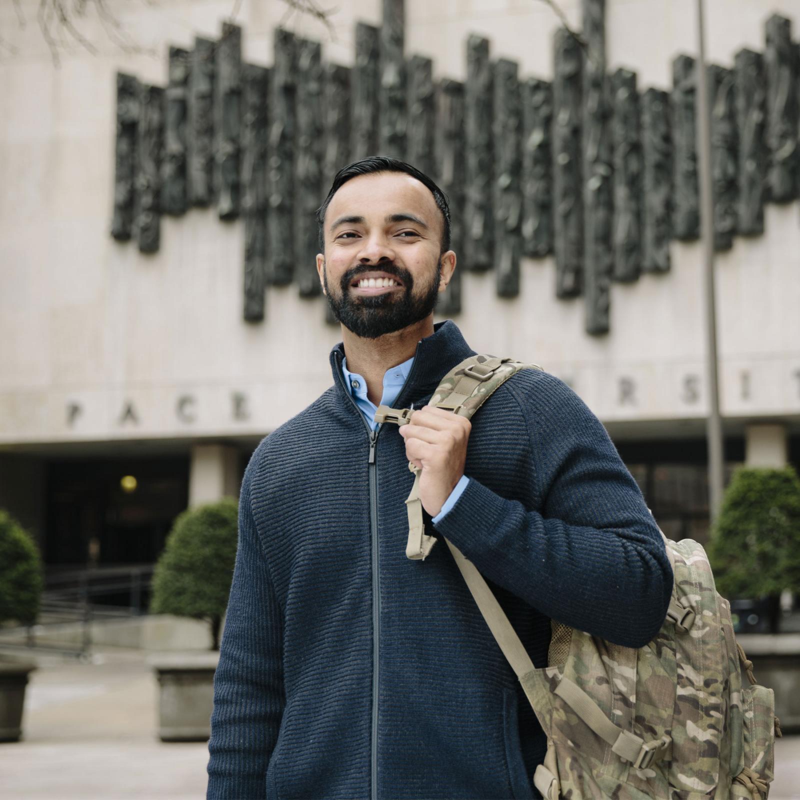
[[[238,503],[233,498],[183,511],[175,518],[153,572],[150,614],[205,619],[212,650],[234,577]]]

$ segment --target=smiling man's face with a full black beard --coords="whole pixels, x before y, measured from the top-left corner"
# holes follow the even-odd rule
[[[330,200],[325,254],[317,256],[338,321],[374,339],[429,316],[455,263],[452,251],[441,254],[443,227],[433,194],[410,175],[382,172],[346,182]]]

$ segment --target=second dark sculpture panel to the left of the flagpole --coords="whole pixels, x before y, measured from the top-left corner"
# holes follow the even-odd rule
[[[642,94],[643,272],[670,269],[672,161],[670,95],[648,89]]]

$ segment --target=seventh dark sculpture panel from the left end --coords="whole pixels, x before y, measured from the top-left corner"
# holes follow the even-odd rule
[[[267,186],[268,283],[286,285],[294,278],[294,35],[275,29],[274,66],[270,86],[270,137]]]

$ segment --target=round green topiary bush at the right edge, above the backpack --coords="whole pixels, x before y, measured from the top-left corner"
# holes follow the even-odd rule
[[[800,479],[792,467],[734,473],[708,554],[726,598],[800,591]]]

